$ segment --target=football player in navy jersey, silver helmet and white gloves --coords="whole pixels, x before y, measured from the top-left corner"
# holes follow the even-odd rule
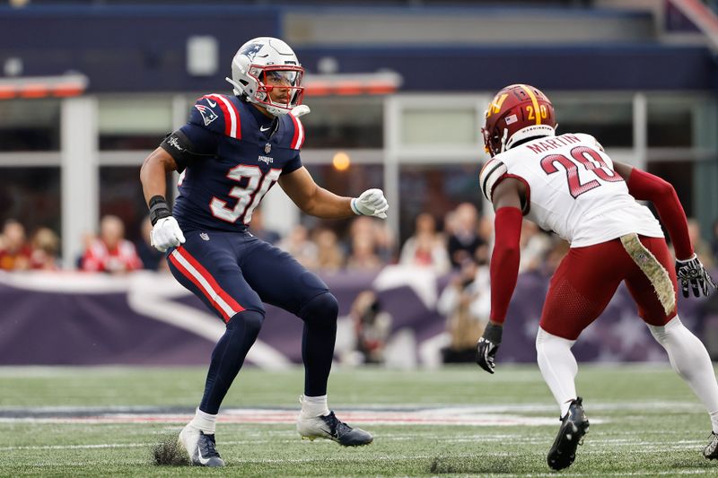
[[[305,379],[297,431],[345,446],[372,441],[371,434],[340,422],[328,409],[337,300],[292,256],[248,231],[252,212],[275,183],[304,213],[320,218],[387,217],[389,205],[380,189],[355,198],[337,196],[319,187],[302,166],[299,117],[309,112],[302,105],[303,73],[284,41],[251,39],[232,59],[227,81],[234,94],[198,99],[188,123],[164,139],[140,173],[153,246],[167,252],[175,278],[226,324],[197,413],[180,432],[195,465],[224,465],[215,449],[215,420],[262,326],[263,302],[304,322]],[[173,170],[181,172],[180,196],[171,211],[165,180]]]

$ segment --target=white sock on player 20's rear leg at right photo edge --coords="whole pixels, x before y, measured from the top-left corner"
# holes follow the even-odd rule
[[[711,415],[713,431],[718,433],[718,383],[705,345],[683,325],[678,316],[670,319],[665,326],[648,328],[668,352],[670,366],[703,402]]]

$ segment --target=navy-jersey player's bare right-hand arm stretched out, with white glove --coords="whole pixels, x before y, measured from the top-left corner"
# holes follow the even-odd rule
[[[368,189],[359,197],[337,196],[317,185],[304,167],[282,175],[278,182],[293,203],[312,216],[322,219],[343,219],[355,214],[387,217],[389,204],[381,189]]]

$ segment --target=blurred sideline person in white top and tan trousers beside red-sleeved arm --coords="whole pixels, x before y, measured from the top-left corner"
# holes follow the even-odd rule
[[[459,274],[439,297],[436,309],[446,317],[449,346],[442,350],[443,361],[472,362],[477,341],[484,333],[491,310],[491,289],[487,265],[465,259]]]

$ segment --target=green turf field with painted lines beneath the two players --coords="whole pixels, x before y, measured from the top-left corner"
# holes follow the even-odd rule
[[[218,424],[217,447],[227,467],[153,465],[153,445],[182,426],[162,416],[188,419],[204,374],[0,368],[0,476],[718,476],[718,463],[701,456],[707,415],[667,364],[581,366],[577,381],[591,430],[574,465],[560,473],[546,465],[558,412],[538,369],[503,364],[493,376],[476,366],[337,368],[329,405],[339,418],[377,413],[390,419],[350,422],[372,431],[372,445],[302,440],[290,422],[225,421]],[[293,414],[302,379],[301,369],[244,369],[224,406]],[[139,412],[150,421],[131,422]],[[106,413],[118,420],[92,418]],[[447,413],[454,420],[442,422]],[[432,423],[391,422],[398,416],[431,417]],[[489,424],[457,424],[462,417]],[[503,425],[490,424],[496,420]]]

